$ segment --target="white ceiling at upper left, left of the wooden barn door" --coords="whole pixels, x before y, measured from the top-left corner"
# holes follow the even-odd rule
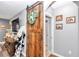
[[[0,18],[11,19],[36,1],[0,1]]]

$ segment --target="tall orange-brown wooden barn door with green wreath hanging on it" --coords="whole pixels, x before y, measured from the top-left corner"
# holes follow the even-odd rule
[[[43,2],[27,7],[27,57],[43,56]]]

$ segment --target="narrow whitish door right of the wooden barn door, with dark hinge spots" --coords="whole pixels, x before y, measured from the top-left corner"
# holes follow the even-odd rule
[[[47,17],[46,16],[46,20],[45,20],[45,31],[46,31],[46,49],[48,52],[52,52],[52,48],[53,48],[53,45],[52,45],[52,33],[51,33],[51,23],[52,23],[52,18],[50,17]]]

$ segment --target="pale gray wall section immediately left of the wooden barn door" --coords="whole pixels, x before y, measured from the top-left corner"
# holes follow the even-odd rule
[[[16,18],[19,18],[20,27],[25,26],[25,29],[24,29],[25,33],[26,33],[26,14],[27,13],[26,13],[26,9],[25,9],[20,14],[18,14],[16,17],[11,19],[11,21],[12,21],[12,20],[14,20]],[[11,23],[11,21],[10,21],[10,23]],[[25,39],[26,39],[26,37],[25,37]],[[25,44],[25,48],[24,48],[25,53],[24,53],[24,55],[26,56],[26,40],[24,41],[24,44]]]

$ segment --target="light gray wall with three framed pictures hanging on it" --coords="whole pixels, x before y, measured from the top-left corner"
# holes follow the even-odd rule
[[[54,32],[54,51],[62,56],[76,57],[79,56],[79,39],[78,39],[78,7],[69,3],[64,7],[55,9],[55,17],[63,15],[63,21],[56,22],[63,24],[63,30]],[[66,24],[66,17],[76,16],[76,23]],[[55,18],[54,18],[55,19]]]

